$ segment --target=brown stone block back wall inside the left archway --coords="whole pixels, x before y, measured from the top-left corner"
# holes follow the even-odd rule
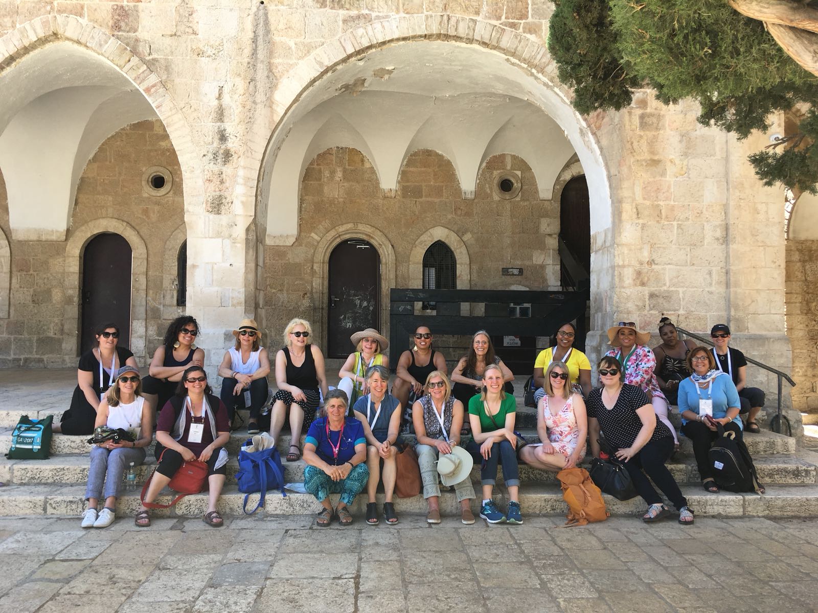
[[[173,186],[150,195],[146,168],[167,168]],[[83,171],[65,241],[11,240],[9,318],[0,319],[0,365],[74,365],[70,347],[79,322],[76,297],[82,283],[82,250],[93,235],[115,231],[146,251],[134,250],[132,345],[140,364],[152,354],[176,306],[176,258],[185,239],[182,175],[159,120],[134,123],[110,136]],[[120,231],[122,222],[135,234]],[[11,237],[6,190],[0,182],[0,228]],[[135,237],[135,238],[134,238]],[[144,259],[144,258],[143,258]],[[79,261],[79,270],[69,262]],[[141,290],[141,291],[140,291]]]

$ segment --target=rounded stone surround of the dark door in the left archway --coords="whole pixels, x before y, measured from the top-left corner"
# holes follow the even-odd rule
[[[148,252],[145,241],[127,221],[101,217],[72,230],[65,244],[65,307],[63,355],[77,355],[79,292],[83,282],[82,255],[85,245],[102,232],[115,232],[131,245],[131,347],[137,360],[146,356],[146,307]]]

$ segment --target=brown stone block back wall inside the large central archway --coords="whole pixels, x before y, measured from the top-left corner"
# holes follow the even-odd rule
[[[501,199],[492,189],[497,172],[504,170],[519,172],[522,189],[515,199]],[[266,248],[265,315],[267,329],[274,336],[294,316],[321,316],[313,278],[316,267],[326,268],[326,261],[315,261],[313,245],[336,226],[348,223],[373,226],[391,244],[395,256],[392,287],[420,287],[423,254],[429,240],[434,242],[434,237],[424,235],[441,226],[451,233],[441,237],[460,257],[458,267],[465,257],[470,262],[467,283],[463,283],[466,274],[458,273],[462,289],[510,289],[512,285],[548,289],[560,283],[556,252],[560,205],[538,199],[533,172],[523,159],[509,154],[488,159],[474,199],[463,199],[448,159],[434,151],[416,151],[402,168],[398,193],[386,197],[366,156],[337,147],[317,155],[304,172],[301,231],[295,244]],[[357,236],[372,240],[366,230]],[[419,241],[422,248],[416,248]],[[383,253],[381,258],[386,266]],[[503,266],[522,267],[524,274],[502,276]],[[388,298],[388,288],[382,296],[382,300]],[[318,333],[320,322],[313,320],[312,324]],[[323,340],[317,338],[317,342]]]

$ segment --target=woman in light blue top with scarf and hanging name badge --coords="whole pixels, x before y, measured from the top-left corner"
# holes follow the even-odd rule
[[[741,440],[739,392],[730,375],[717,369],[716,360],[707,347],[690,350],[687,369],[693,374],[679,383],[681,432],[693,442],[704,489],[716,494],[719,487],[712,477],[708,450],[718,436],[716,423],[726,431],[735,432],[736,440]],[[710,415],[712,421],[705,418],[706,415]]]

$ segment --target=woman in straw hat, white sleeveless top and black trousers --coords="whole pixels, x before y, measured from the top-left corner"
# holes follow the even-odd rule
[[[247,423],[249,434],[258,434],[258,414],[267,402],[267,374],[270,372],[270,358],[261,346],[261,332],[255,320],[241,320],[238,329],[233,330],[236,346],[224,353],[218,376],[222,379],[222,402],[227,407],[230,422],[236,412],[236,405],[249,409]]]

